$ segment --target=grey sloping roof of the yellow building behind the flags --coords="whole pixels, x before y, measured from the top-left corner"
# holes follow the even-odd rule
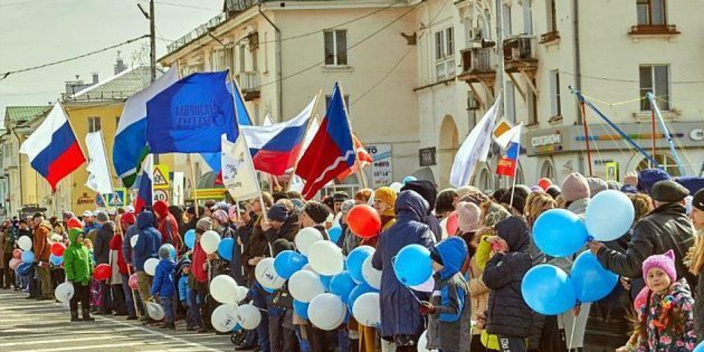
[[[113,77],[98,82],[91,87],[83,89],[66,101],[101,101],[127,99],[141,91],[151,83],[151,70],[149,66],[139,66],[132,70],[125,70]]]

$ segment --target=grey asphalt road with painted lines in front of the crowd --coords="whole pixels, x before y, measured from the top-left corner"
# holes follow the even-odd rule
[[[229,335],[144,327],[125,317],[95,316],[69,322],[68,304],[25,299],[0,289],[0,352],[29,351],[234,351]]]

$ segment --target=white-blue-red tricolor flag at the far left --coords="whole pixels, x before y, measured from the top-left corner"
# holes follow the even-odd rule
[[[27,137],[20,153],[27,155],[32,168],[49,182],[52,191],[86,161],[61,103],[56,103],[42,125]]]

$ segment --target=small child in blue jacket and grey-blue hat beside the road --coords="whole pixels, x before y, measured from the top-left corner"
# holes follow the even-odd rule
[[[159,264],[156,265],[154,281],[151,284],[151,296],[159,296],[159,302],[164,308],[165,323],[162,329],[175,330],[174,323],[174,268],[176,262],[171,258],[171,249],[161,246],[159,249]]]

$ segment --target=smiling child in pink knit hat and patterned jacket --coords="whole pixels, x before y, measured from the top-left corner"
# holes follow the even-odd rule
[[[647,291],[646,303],[639,312],[638,342],[618,348],[617,352],[693,351],[697,343],[694,299],[686,280],[677,280],[674,252],[650,256],[642,268],[647,285],[643,290]]]

